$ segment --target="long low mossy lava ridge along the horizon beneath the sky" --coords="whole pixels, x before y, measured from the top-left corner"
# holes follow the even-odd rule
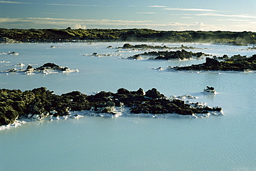
[[[256,43],[256,32],[161,31],[150,29],[6,29],[0,38],[21,42],[155,41],[199,43]]]

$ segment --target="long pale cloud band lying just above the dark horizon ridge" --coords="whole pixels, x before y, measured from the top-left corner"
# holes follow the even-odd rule
[[[206,24],[202,22],[194,23],[163,23],[161,21],[128,21],[111,19],[61,19],[47,17],[28,18],[4,18],[0,17],[1,28],[149,28],[154,30],[229,30],[229,31],[256,31],[255,22],[243,22],[243,24],[233,23],[229,25]]]

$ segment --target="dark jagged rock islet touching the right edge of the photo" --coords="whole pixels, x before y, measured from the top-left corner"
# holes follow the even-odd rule
[[[224,61],[219,61],[222,59]],[[245,57],[241,55],[234,55],[228,58],[223,55],[221,58],[206,57],[205,63],[184,67],[169,67],[169,70],[214,70],[214,71],[250,71],[256,70],[256,54],[252,57]]]

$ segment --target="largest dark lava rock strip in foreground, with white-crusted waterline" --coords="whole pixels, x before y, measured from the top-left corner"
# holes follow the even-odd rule
[[[71,111],[90,110],[95,113],[115,115],[115,107],[128,107],[131,113],[139,114],[208,114],[222,112],[220,107],[209,107],[201,103],[186,103],[180,99],[168,99],[155,88],[129,91],[120,88],[116,93],[98,92],[86,95],[73,91],[57,95],[46,88],[33,90],[0,89],[0,125],[14,123],[16,119],[68,116]]]

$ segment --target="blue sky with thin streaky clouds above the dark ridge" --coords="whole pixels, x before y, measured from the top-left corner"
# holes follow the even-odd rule
[[[256,32],[256,0],[0,1],[0,28]]]

